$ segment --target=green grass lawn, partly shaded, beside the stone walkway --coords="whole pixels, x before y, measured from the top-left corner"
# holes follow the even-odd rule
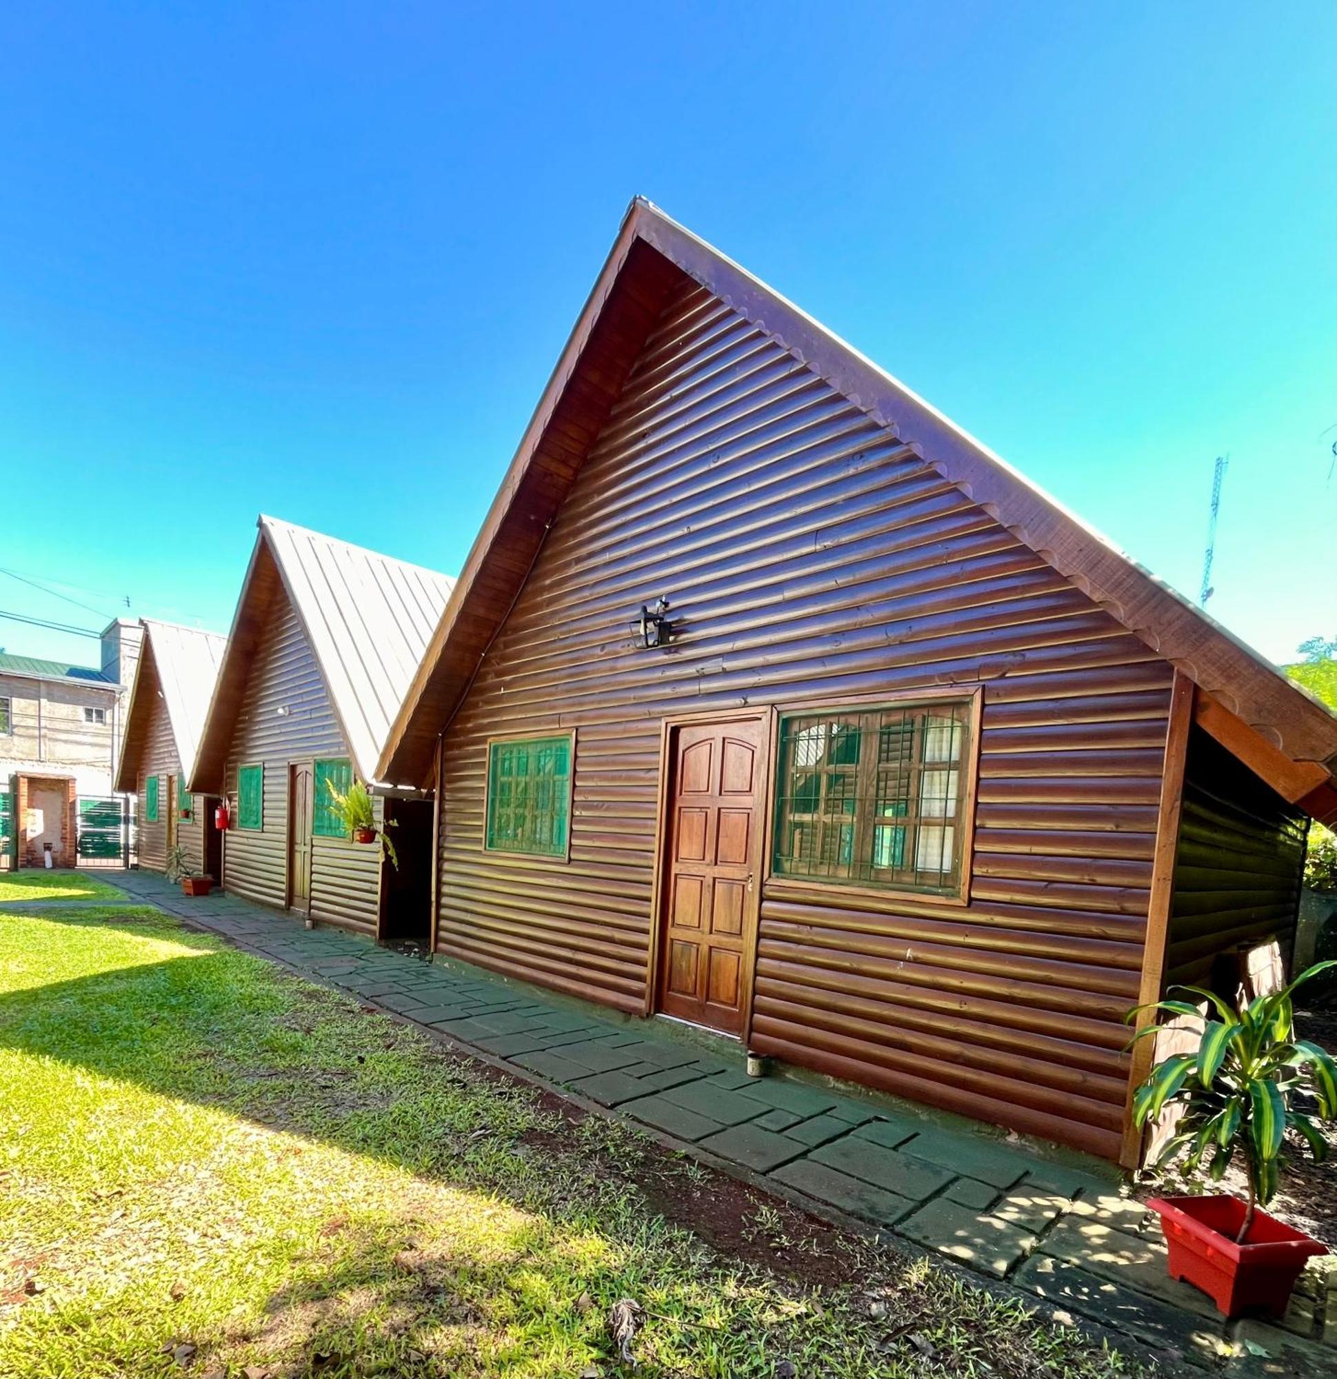
[[[1130,1372],[859,1240],[721,1254],[648,1162],[713,1182],[152,909],[0,916],[0,1375],[630,1373],[622,1298],[641,1376]]]

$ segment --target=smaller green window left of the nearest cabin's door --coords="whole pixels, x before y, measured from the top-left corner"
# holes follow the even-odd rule
[[[567,856],[573,747],[569,732],[488,743],[489,852]]]

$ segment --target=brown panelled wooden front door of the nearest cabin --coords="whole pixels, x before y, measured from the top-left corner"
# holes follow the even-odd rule
[[[753,983],[766,723],[668,735],[659,1009],[726,1034],[742,1033]]]

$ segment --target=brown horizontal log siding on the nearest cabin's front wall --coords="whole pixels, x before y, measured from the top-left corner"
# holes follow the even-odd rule
[[[678,640],[633,650],[659,594]],[[970,905],[766,884],[753,1045],[1115,1157],[1170,677],[689,287],[447,729],[440,946],[640,1011],[664,717],[984,681]],[[568,728],[571,862],[484,852],[487,738]]]

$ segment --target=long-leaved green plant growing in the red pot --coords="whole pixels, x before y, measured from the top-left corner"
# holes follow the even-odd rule
[[[1181,1158],[1187,1175],[1205,1172],[1218,1183],[1235,1156],[1241,1157],[1249,1202],[1238,1241],[1247,1238],[1254,1211],[1276,1196],[1287,1129],[1308,1145],[1316,1162],[1327,1154],[1318,1121],[1337,1118],[1337,1060],[1318,1044],[1296,1038],[1292,996],[1333,967],[1337,958],[1316,963],[1285,990],[1242,1001],[1238,1008],[1198,986],[1172,987],[1207,1003],[1206,1016],[1198,1004],[1181,1000],[1139,1005],[1126,1016],[1132,1020],[1139,1011],[1155,1009],[1202,1025],[1196,1052],[1162,1059],[1133,1094],[1133,1121],[1148,1125],[1166,1107],[1183,1107],[1156,1168]],[[1159,1030],[1148,1025],[1129,1047]]]

